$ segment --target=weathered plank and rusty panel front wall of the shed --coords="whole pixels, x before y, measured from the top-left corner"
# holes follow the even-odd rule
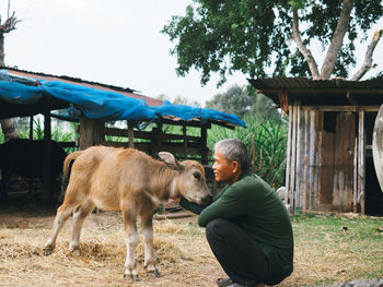
[[[289,106],[287,200],[303,212],[364,213],[367,106]],[[334,131],[324,130],[325,112],[338,112]]]

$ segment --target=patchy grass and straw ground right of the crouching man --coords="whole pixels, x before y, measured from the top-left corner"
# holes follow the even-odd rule
[[[297,272],[302,266],[318,272],[306,271],[311,284],[383,277],[383,218],[301,214],[291,219]]]

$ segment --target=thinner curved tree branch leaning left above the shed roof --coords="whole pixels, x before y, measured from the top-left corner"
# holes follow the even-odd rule
[[[299,19],[298,19],[297,9],[292,9],[292,39],[295,41],[298,46],[298,50],[303,55],[304,59],[307,61],[313,80],[317,80],[320,77],[317,64],[315,62],[313,55],[304,45],[301,38],[301,35],[299,33]]]

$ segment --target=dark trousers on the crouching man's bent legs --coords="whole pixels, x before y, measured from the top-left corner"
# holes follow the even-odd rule
[[[217,218],[206,226],[206,237],[218,262],[233,282],[249,286],[281,282],[282,278],[272,278],[260,244],[239,226]]]

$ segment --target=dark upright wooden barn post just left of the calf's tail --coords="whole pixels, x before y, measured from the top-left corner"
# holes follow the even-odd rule
[[[43,202],[50,202],[53,199],[51,182],[51,127],[50,127],[50,97],[46,97],[44,111],[44,170],[43,170]]]

